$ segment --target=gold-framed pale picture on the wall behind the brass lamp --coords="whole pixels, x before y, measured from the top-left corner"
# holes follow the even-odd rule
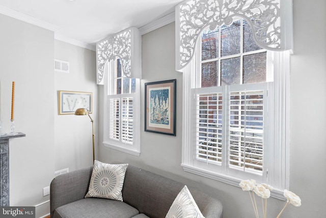
[[[83,107],[92,114],[92,93],[59,91],[59,115],[74,114],[76,109]]]

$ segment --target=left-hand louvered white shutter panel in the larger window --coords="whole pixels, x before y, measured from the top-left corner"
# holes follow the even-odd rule
[[[197,94],[196,156],[222,162],[222,93]]]

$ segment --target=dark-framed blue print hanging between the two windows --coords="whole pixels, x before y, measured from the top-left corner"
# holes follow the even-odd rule
[[[176,135],[176,79],[145,83],[145,131]]]

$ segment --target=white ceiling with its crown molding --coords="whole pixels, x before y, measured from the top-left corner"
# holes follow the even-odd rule
[[[94,47],[130,26],[141,28],[175,10],[183,0],[0,0],[0,13]]]

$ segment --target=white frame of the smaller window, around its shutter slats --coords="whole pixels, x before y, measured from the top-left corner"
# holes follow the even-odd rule
[[[103,128],[103,145],[118,151],[122,151],[135,156],[140,156],[140,79],[136,78],[136,90],[131,94],[112,94],[114,93],[114,74],[116,60],[108,62],[104,67],[104,128]],[[133,98],[133,142],[123,143],[121,140],[110,139],[110,99],[112,98]],[[120,127],[122,128],[122,126]]]

